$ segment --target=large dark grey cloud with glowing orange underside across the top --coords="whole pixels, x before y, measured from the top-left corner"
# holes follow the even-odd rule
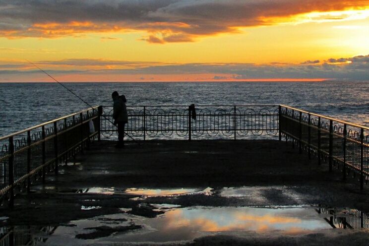
[[[273,25],[275,18],[368,6],[369,0],[2,0],[0,35],[58,38],[134,30],[147,32],[142,40],[149,43],[193,42]],[[308,21],[339,21],[351,14],[315,14]]]

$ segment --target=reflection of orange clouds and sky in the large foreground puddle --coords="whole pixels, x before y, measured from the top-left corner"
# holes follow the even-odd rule
[[[168,204],[155,205],[167,207]],[[78,240],[78,234],[91,234],[87,228],[106,225],[107,218],[122,219],[117,228],[129,225],[142,226],[137,230],[113,233],[110,237],[96,238],[95,244],[117,242],[178,242],[214,234],[278,230],[282,234],[304,234],[311,230],[331,228],[319,218],[312,207],[188,207],[168,208],[165,214],[145,218],[130,214],[107,215],[100,219],[71,221],[77,227],[59,227],[49,239],[51,245],[57,242],[73,245],[88,245],[89,240]],[[124,221],[125,219],[126,221]],[[114,228],[113,228],[114,229]],[[112,230],[112,229],[110,229]]]

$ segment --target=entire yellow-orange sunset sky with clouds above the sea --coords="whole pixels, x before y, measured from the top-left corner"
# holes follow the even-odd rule
[[[0,82],[369,81],[369,0],[0,0]]]

